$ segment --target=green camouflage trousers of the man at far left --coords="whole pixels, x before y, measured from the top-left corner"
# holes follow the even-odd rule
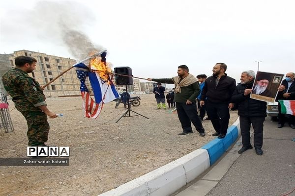
[[[29,147],[43,146],[48,140],[49,123],[47,115],[40,111],[22,111],[23,116],[28,124]]]

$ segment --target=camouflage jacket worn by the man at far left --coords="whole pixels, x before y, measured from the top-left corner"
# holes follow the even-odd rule
[[[46,105],[39,83],[25,71],[18,68],[9,70],[3,74],[2,81],[19,111],[38,111],[38,106]]]

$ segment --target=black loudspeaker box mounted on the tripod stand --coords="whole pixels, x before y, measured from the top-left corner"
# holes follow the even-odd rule
[[[114,68],[115,73],[123,74],[123,75],[132,75],[132,70],[130,67],[116,67]],[[132,77],[116,75],[115,74],[115,81],[117,85],[133,85]]]

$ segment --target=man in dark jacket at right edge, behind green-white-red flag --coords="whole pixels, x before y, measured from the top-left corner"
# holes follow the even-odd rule
[[[285,90],[278,93],[277,100],[295,100],[295,73],[289,72],[286,74],[286,78],[282,81],[282,85],[285,86]],[[289,124],[291,128],[295,128],[295,116],[289,116]],[[286,122],[285,114],[281,112],[281,104],[279,102],[279,122],[278,128],[282,128]]]

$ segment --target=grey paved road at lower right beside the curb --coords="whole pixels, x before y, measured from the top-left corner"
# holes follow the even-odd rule
[[[295,188],[295,129],[276,128],[268,118],[264,125],[264,154],[241,154],[206,196],[281,196]]]

